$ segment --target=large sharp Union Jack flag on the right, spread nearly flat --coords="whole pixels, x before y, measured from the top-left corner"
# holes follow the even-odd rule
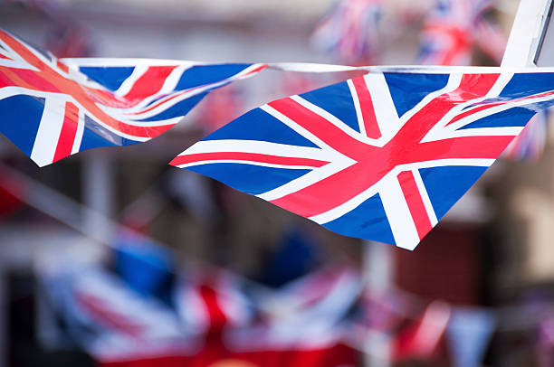
[[[255,108],[171,165],[415,249],[553,99],[550,72],[374,72]]]

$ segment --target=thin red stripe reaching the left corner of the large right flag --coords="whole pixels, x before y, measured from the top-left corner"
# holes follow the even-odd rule
[[[310,158],[294,158],[278,155],[262,155],[258,153],[223,152],[223,153],[198,153],[194,155],[177,155],[169,165],[186,165],[190,163],[202,163],[203,161],[246,161],[253,163],[265,163],[272,165],[298,165],[308,167],[321,167],[329,162]]]

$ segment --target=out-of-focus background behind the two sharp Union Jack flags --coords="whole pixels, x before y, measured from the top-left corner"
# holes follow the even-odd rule
[[[518,0],[3,0],[58,57],[501,61]],[[169,167],[269,100],[351,77],[263,71],[177,127],[38,169],[0,136],[0,367],[554,366],[548,114],[413,252]]]

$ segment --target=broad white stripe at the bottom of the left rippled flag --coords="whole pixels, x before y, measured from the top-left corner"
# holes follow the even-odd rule
[[[65,118],[65,102],[65,99],[56,96],[45,99],[43,117],[31,152],[31,159],[40,167],[53,162]]]

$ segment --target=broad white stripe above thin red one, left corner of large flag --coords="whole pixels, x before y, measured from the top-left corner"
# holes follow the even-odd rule
[[[201,140],[180,155],[203,153],[253,153],[294,158],[317,159],[331,162],[337,158],[332,151],[311,146],[289,146],[256,140]]]

